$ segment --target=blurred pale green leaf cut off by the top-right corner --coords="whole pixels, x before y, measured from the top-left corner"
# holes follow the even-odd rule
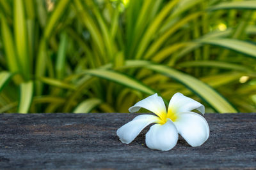
[[[233,2],[225,2],[217,4],[216,6],[212,6],[208,8],[208,10],[256,10],[256,1],[233,1]]]

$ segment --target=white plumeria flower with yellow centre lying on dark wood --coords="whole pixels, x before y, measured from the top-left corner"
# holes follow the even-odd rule
[[[171,150],[178,141],[179,134],[195,147],[209,138],[209,125],[204,117],[192,110],[204,114],[204,106],[193,99],[176,93],[170,100],[168,111],[162,97],[154,94],[129,108],[134,113],[145,108],[155,115],[139,115],[131,122],[120,127],[116,134],[122,143],[131,143],[147,125],[155,123],[146,134],[146,145],[154,150]]]

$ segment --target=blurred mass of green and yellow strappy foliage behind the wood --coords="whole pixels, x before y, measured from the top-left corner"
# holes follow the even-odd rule
[[[155,92],[255,112],[256,1],[1,0],[0,113],[127,112]]]

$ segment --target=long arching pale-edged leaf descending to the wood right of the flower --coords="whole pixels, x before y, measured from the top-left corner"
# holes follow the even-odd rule
[[[212,87],[194,78],[193,76],[161,65],[150,65],[146,67],[184,84],[186,87],[200,96],[206,103],[212,106],[214,110],[220,113],[237,113],[237,110],[230,103],[228,103],[223,96],[216,92],[216,90],[212,89]]]

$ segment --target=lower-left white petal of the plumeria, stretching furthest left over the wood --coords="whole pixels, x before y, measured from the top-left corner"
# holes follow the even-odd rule
[[[116,131],[116,135],[119,137],[122,143],[131,143],[140,132],[152,123],[158,123],[159,118],[154,115],[139,115],[135,117],[131,122],[123,125]]]

